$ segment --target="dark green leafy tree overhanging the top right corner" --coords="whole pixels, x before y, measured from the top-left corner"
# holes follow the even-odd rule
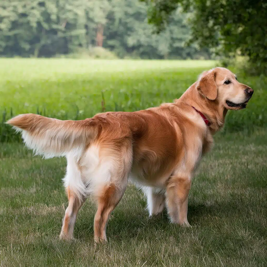
[[[248,56],[260,72],[267,69],[267,2],[265,0],[141,0],[149,5],[148,20],[161,32],[178,6],[193,11],[192,43],[220,48],[225,55]]]

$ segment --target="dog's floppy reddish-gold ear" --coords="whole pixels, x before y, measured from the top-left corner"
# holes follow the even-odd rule
[[[199,82],[197,83],[198,92],[206,96],[210,100],[215,100],[217,97],[217,85],[215,83],[215,71],[205,72],[200,77]]]

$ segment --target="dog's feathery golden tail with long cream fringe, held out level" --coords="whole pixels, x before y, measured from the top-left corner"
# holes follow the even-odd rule
[[[21,114],[9,121],[22,133],[22,139],[35,154],[45,158],[72,153],[81,156],[86,144],[97,135],[97,127],[91,119],[73,121],[57,120],[36,114]]]

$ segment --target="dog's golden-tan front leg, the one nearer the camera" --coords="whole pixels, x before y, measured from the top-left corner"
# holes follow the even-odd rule
[[[190,226],[187,221],[190,176],[171,176],[166,187],[166,206],[173,223]]]

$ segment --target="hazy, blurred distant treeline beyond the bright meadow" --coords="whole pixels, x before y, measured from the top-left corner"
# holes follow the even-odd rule
[[[187,14],[176,10],[159,35],[138,0],[1,0],[0,56],[53,57],[111,50],[118,57],[209,58],[208,49],[184,46]]]

